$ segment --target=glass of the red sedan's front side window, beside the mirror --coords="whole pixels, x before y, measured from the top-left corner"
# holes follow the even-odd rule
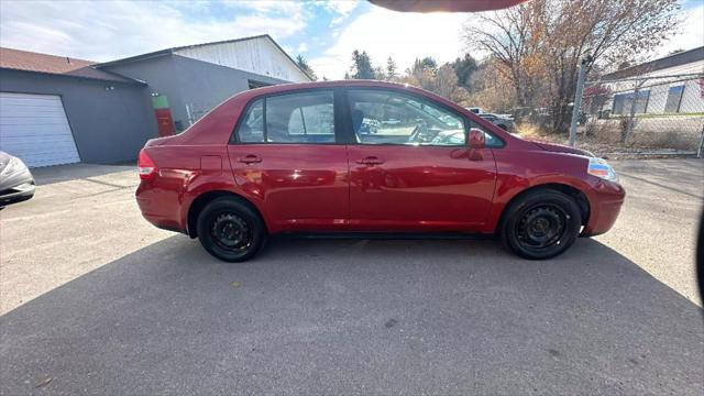
[[[464,145],[463,119],[426,99],[391,90],[348,91],[360,144]]]

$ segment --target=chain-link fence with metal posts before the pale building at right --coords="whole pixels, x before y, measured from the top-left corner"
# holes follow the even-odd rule
[[[579,113],[578,146],[613,152],[702,154],[704,74],[588,81]]]

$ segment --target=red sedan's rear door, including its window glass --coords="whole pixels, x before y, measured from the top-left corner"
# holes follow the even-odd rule
[[[333,89],[260,97],[228,146],[232,173],[263,205],[271,232],[342,230],[349,217],[345,145]]]

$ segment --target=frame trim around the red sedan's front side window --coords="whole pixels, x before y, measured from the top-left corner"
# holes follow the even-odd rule
[[[344,117],[343,117],[343,124],[342,127],[342,134],[345,138],[345,141],[348,142],[346,144],[349,145],[360,145],[360,146],[398,146],[398,147],[450,147],[450,148],[454,148],[457,150],[458,147],[469,147],[469,141],[470,141],[470,129],[471,128],[480,128],[482,131],[484,131],[484,133],[488,133],[492,136],[494,136],[497,141],[501,142],[499,146],[492,146],[487,148],[503,148],[506,146],[506,142],[501,138],[497,136],[496,134],[492,133],[491,131],[486,131],[485,128],[482,128],[482,125],[480,125],[477,122],[471,120],[470,118],[468,118],[465,114],[459,112],[458,110],[435,101],[430,98],[427,98],[422,95],[418,95],[415,92],[407,92],[405,90],[402,89],[395,89],[395,88],[388,88],[388,87],[344,87],[341,88],[341,90],[343,91],[342,94],[342,109],[344,112]],[[386,92],[393,92],[393,94],[397,94],[399,96],[404,96],[407,97],[409,99],[416,100],[418,102],[430,102],[430,105],[432,105],[433,107],[443,109],[448,112],[450,112],[451,114],[453,114],[454,117],[459,118],[462,123],[463,123],[463,130],[464,130],[464,144],[398,144],[398,143],[375,143],[375,144],[369,144],[369,143],[361,143],[358,142],[355,139],[355,133],[353,131],[352,128],[352,116],[351,116],[351,108],[350,108],[350,90],[367,90],[367,91],[386,91]],[[475,124],[476,127],[472,127],[472,124]]]

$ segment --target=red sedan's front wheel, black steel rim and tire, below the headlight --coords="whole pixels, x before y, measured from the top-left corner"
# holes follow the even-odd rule
[[[541,188],[509,204],[499,235],[518,256],[546,260],[564,253],[576,241],[581,227],[582,215],[574,199]]]

